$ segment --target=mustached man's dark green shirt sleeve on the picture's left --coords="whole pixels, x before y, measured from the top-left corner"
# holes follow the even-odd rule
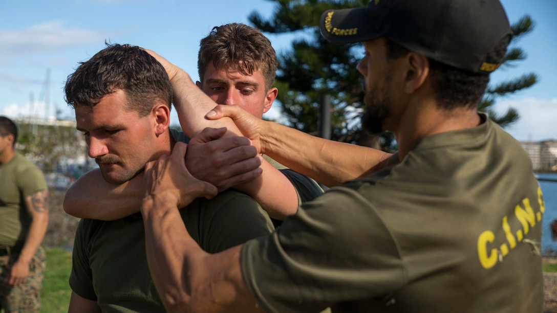
[[[77,295],[96,301],[93,275],[89,266],[89,236],[87,236],[92,224],[94,224],[94,221],[90,219],[81,219],[77,226],[74,250],[72,251],[70,287]]]

